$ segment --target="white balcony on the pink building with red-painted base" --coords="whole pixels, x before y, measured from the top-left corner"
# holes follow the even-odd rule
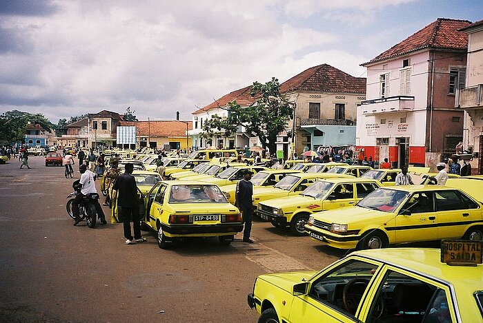
[[[413,111],[414,96],[389,96],[361,102],[362,114]]]

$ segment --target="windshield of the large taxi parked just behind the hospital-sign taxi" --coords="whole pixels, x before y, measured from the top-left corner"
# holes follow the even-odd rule
[[[400,207],[408,195],[407,191],[380,188],[360,200],[357,206],[391,213]]]

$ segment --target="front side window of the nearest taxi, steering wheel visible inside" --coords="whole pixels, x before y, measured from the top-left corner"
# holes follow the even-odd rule
[[[340,267],[317,278],[308,295],[339,312],[354,315],[377,267],[377,264],[360,260],[345,262]]]

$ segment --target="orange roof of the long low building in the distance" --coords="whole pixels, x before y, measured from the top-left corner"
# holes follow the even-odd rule
[[[139,136],[151,137],[184,137],[188,130],[193,129],[192,121],[158,120],[158,121],[121,121],[121,126],[136,126]]]

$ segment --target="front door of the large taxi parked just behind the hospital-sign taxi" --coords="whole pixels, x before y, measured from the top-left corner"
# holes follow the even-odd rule
[[[395,218],[395,240],[391,243],[437,239],[437,219],[433,191],[415,192]]]

